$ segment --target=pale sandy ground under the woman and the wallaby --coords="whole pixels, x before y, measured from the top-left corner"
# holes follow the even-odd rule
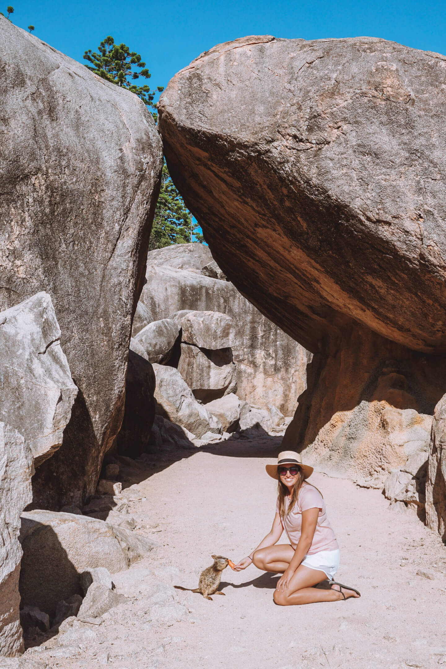
[[[25,658],[64,669],[446,667],[445,547],[415,513],[397,512],[380,492],[349,480],[312,476],[340,543],[337,578],[360,599],[278,607],[277,577],[253,565],[240,573],[228,567],[226,596],[213,601],[172,589],[197,587],[212,553],[238,561],[269,531],[275,483],[264,466],[279,446],[261,438],[171,450],[154,455],[151,469],[149,458],[132,471],[143,495],[130,506],[135,531],[158,548],[114,577],[128,602],[99,626],[76,623],[71,641],[59,634]],[[166,622],[154,619],[156,602]]]

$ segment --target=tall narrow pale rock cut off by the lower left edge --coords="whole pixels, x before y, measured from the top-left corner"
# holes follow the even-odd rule
[[[20,514],[32,500],[31,449],[17,430],[0,423],[0,655],[23,652],[19,622]]]

